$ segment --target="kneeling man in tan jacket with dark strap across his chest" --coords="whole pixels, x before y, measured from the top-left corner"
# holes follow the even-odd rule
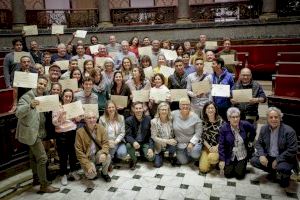
[[[88,179],[96,178],[97,165],[102,165],[101,176],[106,182],[110,182],[108,166],[111,158],[105,128],[97,123],[94,112],[87,112],[84,119],[86,125],[77,130],[75,138],[77,159]]]

